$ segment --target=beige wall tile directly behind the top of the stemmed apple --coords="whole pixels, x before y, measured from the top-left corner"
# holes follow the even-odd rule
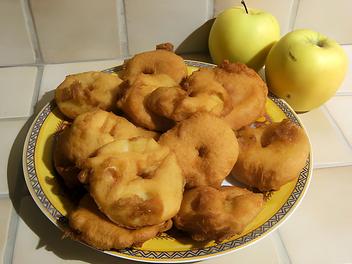
[[[271,13],[277,19],[280,26],[280,35],[283,36],[289,32],[289,19],[291,5],[294,0],[246,0],[246,6]],[[238,0],[214,0],[214,17],[227,8],[233,6],[243,6]]]

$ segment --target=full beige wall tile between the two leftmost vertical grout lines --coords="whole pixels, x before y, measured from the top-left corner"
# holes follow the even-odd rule
[[[30,0],[44,62],[120,57],[116,0]]]

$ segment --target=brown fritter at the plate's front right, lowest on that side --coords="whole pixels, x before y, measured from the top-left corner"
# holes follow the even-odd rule
[[[197,187],[183,193],[180,211],[172,220],[196,241],[220,243],[242,233],[263,206],[263,198],[246,189]]]

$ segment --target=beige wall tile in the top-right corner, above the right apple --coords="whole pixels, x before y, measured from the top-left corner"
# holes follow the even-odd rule
[[[339,44],[352,44],[351,10],[352,1],[299,1],[293,29],[314,30]]]

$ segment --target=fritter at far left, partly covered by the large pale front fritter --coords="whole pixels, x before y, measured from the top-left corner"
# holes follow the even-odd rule
[[[68,188],[80,186],[77,179],[82,163],[101,146],[117,139],[141,136],[125,118],[96,109],[78,116],[64,129],[54,147],[54,165]]]

